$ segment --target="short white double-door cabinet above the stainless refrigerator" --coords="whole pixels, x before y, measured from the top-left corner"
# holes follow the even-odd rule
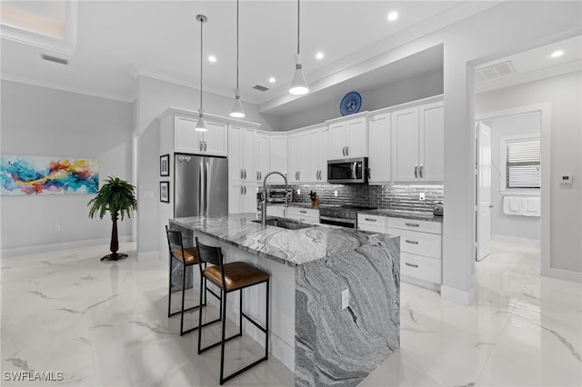
[[[226,123],[206,121],[208,130],[196,132],[196,118],[176,114],[174,150],[186,154],[226,156]]]

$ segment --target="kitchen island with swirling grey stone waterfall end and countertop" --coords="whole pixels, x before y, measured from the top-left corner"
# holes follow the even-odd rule
[[[361,382],[400,344],[399,238],[326,225],[263,227],[254,220],[252,213],[197,216],[171,219],[170,228],[183,232],[186,245],[197,236],[220,245],[226,262],[271,273],[270,352],[295,372],[296,385]],[[256,288],[246,292],[245,310],[264,322],[265,290]],[[229,316],[238,313],[233,301]],[[244,329],[263,342],[254,326]]]

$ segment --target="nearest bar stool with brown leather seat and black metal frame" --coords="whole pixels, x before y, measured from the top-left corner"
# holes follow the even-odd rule
[[[208,323],[202,323],[202,309],[200,308],[198,312],[198,354],[214,348],[220,345],[220,384],[234,378],[241,372],[245,372],[251,367],[256,366],[259,362],[263,362],[268,359],[269,356],[269,280],[270,274],[266,273],[264,270],[259,269],[255,265],[246,262],[233,262],[224,263],[224,255],[220,247],[206,246],[198,241],[196,237],[196,248],[198,249],[198,259],[201,263],[211,263],[213,266],[206,267],[205,269],[200,267],[200,276],[205,278],[205,280],[214,283],[220,289],[220,306],[222,308],[221,316],[222,319],[222,339],[220,342],[215,342],[214,344],[208,345],[202,348],[202,327]],[[202,282],[201,282],[202,283]],[[266,283],[266,326],[262,327],[259,323],[250,318],[246,313],[243,312],[243,290],[249,286],[254,286],[260,283]],[[201,285],[202,286],[202,285]],[[202,287],[200,288],[202,292]],[[226,333],[226,295],[231,292],[239,291],[240,297],[240,314],[239,319],[239,332],[233,336],[225,338]],[[214,294],[214,293],[213,293]],[[217,296],[216,294],[214,294]],[[243,335],[243,317],[246,318],[250,323],[253,323],[261,332],[265,333],[265,356],[256,360],[252,364],[231,373],[230,375],[224,377],[225,371],[225,342],[235,339]],[[216,322],[216,321],[215,321]],[[215,323],[210,322],[210,323]]]

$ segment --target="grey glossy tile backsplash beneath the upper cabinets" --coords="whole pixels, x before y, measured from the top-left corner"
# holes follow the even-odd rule
[[[303,203],[310,202],[310,191],[315,191],[321,203],[325,204],[355,203],[420,213],[432,213],[430,204],[444,201],[442,184],[293,184],[291,186],[293,202]],[[297,190],[301,193],[297,193]],[[425,201],[419,199],[420,193],[425,193]]]

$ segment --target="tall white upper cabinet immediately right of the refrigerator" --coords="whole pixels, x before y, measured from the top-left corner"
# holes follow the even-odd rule
[[[228,180],[230,182],[256,181],[254,129],[231,124],[228,127]]]

